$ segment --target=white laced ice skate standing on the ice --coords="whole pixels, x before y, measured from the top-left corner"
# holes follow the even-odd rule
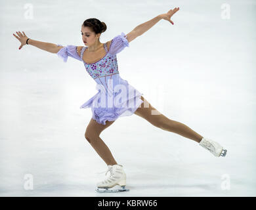
[[[110,175],[107,176],[108,172]],[[125,188],[126,175],[123,171],[122,165],[108,165],[108,171],[105,174],[107,177],[105,180],[97,183],[96,192],[123,192],[129,191]],[[119,185],[121,188],[113,189],[114,186]],[[112,189],[110,189],[112,188]]]

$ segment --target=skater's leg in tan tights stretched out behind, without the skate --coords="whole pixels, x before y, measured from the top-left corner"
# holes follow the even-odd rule
[[[158,110],[151,106],[151,104],[143,96],[141,96],[141,100],[144,102],[141,104],[141,107],[136,110],[135,114],[137,116],[146,119],[152,125],[165,131],[177,133],[182,137],[190,138],[198,143],[200,140],[202,140],[203,137],[190,129],[190,127],[178,121],[171,120],[158,112]]]

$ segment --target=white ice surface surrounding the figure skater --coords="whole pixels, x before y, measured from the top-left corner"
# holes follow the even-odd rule
[[[230,6],[223,18],[222,5]],[[0,196],[256,196],[255,1],[0,1]],[[120,76],[152,106],[222,144],[216,158],[193,140],[133,114],[100,136],[124,166],[129,192],[98,194],[107,169],[84,137],[97,93],[82,62],[12,35],[83,45],[81,24],[107,25],[105,43],[169,9],[117,54]],[[225,7],[226,8],[226,7]],[[26,175],[33,190],[26,190]],[[24,179],[25,178],[25,179]]]

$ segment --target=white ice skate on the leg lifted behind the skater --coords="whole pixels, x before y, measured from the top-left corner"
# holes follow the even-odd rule
[[[199,144],[216,157],[226,156],[226,150],[223,149],[223,146],[209,138],[202,138]]]

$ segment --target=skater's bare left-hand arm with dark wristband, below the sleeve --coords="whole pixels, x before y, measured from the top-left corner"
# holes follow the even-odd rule
[[[22,31],[22,33],[20,33],[20,31],[16,31],[16,33],[18,36],[16,36],[14,33],[13,33],[13,35],[14,35],[14,37],[16,37],[18,39],[18,41],[20,41],[19,49],[22,49],[22,47],[24,45],[27,45],[26,41],[27,41],[28,37],[26,36],[24,31]],[[58,46],[53,43],[48,43],[48,42],[43,42],[43,41],[36,41],[34,39],[29,39],[28,44],[38,47],[39,49],[42,49],[49,53],[58,53],[58,51],[60,49],[62,49],[62,46]]]

